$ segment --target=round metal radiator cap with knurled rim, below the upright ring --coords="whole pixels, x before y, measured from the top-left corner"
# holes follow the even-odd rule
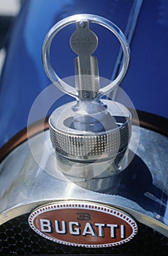
[[[115,159],[129,144],[131,113],[107,99],[70,102],[51,114],[49,126],[53,147],[64,157],[84,162]]]

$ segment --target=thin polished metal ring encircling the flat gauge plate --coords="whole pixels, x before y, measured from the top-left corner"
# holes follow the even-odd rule
[[[121,47],[123,48],[123,67],[121,68],[121,72],[118,74],[118,77],[115,78],[115,80],[113,80],[103,89],[99,90],[98,96],[100,97],[102,94],[108,94],[110,91],[114,90],[118,86],[118,84],[121,83],[129,67],[129,45],[126,37],[124,36],[123,32],[118,28],[118,26],[116,26],[114,23],[112,23],[110,20],[107,20],[106,18],[91,14],[80,14],[64,18],[63,20],[56,23],[56,25],[53,26],[53,28],[50,29],[50,31],[48,32],[42,46],[42,60],[45,67],[45,72],[48,78],[58,87],[58,89],[61,89],[61,91],[64,91],[66,94],[69,94],[72,97],[79,97],[77,89],[69,86],[69,84],[64,82],[64,80],[61,80],[58,77],[57,73],[53,70],[53,67],[50,63],[50,45],[53,41],[53,38],[56,36],[56,34],[58,34],[61,29],[64,29],[64,27],[77,22],[96,23],[100,26],[104,26],[104,28],[110,30],[113,34],[115,34],[115,36],[121,43]]]

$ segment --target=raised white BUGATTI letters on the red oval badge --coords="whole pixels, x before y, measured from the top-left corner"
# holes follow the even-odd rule
[[[80,228],[80,222],[69,222],[55,220],[51,222],[49,219],[40,219],[40,228],[44,233],[53,233],[58,234],[71,234],[72,236],[97,236],[104,238],[104,228],[110,230],[110,237],[116,238],[116,230],[120,230],[121,238],[124,236],[124,225],[117,224],[104,224],[104,223],[95,223],[94,225],[90,222],[86,222],[83,230]]]

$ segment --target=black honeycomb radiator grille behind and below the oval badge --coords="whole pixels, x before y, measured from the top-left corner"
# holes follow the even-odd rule
[[[34,233],[28,214],[0,226],[0,255],[167,255],[168,239],[138,223],[139,232],[129,243],[89,249],[56,244]]]

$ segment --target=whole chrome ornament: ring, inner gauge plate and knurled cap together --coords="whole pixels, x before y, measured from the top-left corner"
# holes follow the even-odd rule
[[[75,88],[64,83],[50,64],[50,44],[53,37],[70,23],[76,23],[76,31],[70,39],[71,48],[77,53]],[[99,60],[92,55],[98,47],[98,37],[89,29],[90,23],[98,23],[109,29],[118,37],[123,48],[124,61],[118,78],[101,89]],[[114,90],[126,74],[129,66],[126,37],[105,18],[75,15],[53,26],[45,38],[42,53],[48,78],[59,89],[76,98],[76,102],[62,105],[49,118],[50,138],[56,153],[76,162],[111,160],[113,168],[119,170],[131,136],[131,113],[120,103],[102,97]]]

